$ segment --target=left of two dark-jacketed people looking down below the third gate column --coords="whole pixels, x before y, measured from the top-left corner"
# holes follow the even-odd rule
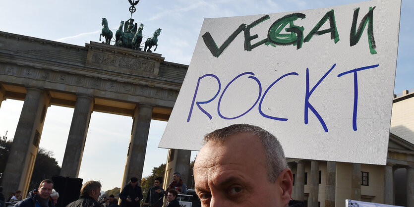
[[[119,194],[121,207],[139,207],[139,201],[143,197],[141,187],[138,185],[138,178],[136,177],[131,177],[129,184],[123,187]]]

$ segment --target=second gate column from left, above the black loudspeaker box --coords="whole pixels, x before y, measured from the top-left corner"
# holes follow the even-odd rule
[[[67,137],[60,175],[63,177],[78,177],[91,120],[93,98],[77,96],[75,110]]]

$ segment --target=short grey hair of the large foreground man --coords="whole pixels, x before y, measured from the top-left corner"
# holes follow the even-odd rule
[[[280,142],[270,132],[249,124],[233,124],[206,134],[204,136],[204,143],[224,143],[229,136],[244,132],[251,133],[260,138],[267,159],[267,179],[272,183],[276,182],[279,174],[288,168],[288,163],[286,162],[286,157]]]

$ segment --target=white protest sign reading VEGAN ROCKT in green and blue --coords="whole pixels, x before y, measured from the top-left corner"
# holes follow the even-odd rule
[[[401,0],[205,19],[160,148],[258,125],[293,158],[385,164]]]

